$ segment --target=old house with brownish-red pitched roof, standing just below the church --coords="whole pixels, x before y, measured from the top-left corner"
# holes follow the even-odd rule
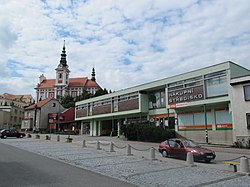
[[[47,130],[48,114],[61,113],[65,108],[57,99],[47,98],[25,108],[22,130]]]

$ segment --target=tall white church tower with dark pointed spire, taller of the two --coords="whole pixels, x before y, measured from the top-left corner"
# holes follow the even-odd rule
[[[56,89],[56,96],[64,96],[67,95],[67,87],[69,85],[69,69],[66,60],[66,50],[65,50],[65,40],[63,44],[63,50],[61,53],[61,60],[58,64],[56,70],[56,82],[55,82],[55,89]]]

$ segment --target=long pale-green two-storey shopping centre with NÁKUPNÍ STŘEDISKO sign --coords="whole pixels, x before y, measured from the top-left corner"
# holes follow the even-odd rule
[[[243,95],[234,95],[230,83],[249,75],[250,70],[223,62],[77,102],[75,119],[81,129],[89,125],[92,136],[119,135],[121,125],[145,122],[200,143],[231,145],[240,133],[237,129],[246,124],[235,121],[234,99]],[[247,109],[242,110],[246,115]]]

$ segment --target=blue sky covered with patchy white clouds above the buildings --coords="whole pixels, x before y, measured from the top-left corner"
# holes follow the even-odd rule
[[[0,94],[70,77],[120,90],[224,61],[250,69],[249,0],[0,0]]]

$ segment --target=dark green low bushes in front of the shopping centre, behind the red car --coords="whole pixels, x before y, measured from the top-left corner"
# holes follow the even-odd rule
[[[133,141],[161,142],[176,136],[174,130],[164,129],[149,124],[123,125],[121,131],[128,140]]]

